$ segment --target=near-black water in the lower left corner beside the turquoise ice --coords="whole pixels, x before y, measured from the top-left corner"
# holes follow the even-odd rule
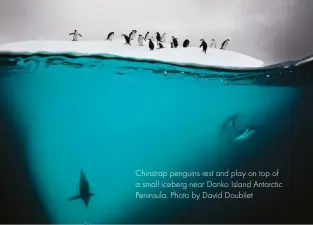
[[[26,161],[22,127],[0,99],[0,223],[49,224]]]

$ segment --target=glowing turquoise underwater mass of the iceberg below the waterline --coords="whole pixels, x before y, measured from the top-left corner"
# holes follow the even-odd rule
[[[135,199],[135,170],[218,163],[227,117],[239,113],[242,127],[266,124],[297,97],[293,87],[225,78],[253,71],[93,57],[7,58],[1,69],[9,75],[1,86],[26,131],[35,188],[55,223],[127,221],[153,201]],[[78,194],[80,170],[95,193],[87,210],[82,201],[67,200]]]

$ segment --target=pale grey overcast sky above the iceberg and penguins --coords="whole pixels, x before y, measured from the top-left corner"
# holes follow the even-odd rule
[[[191,44],[229,38],[228,48],[267,64],[313,54],[313,0],[0,0],[0,43],[103,40],[110,31],[166,32]]]

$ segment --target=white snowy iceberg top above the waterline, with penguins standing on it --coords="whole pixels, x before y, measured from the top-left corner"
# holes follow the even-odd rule
[[[109,54],[114,56],[156,60],[179,65],[214,66],[214,67],[261,67],[261,60],[228,50],[208,48],[207,54],[198,47],[170,48],[166,45],[150,51],[148,42],[143,47],[137,41],[132,46],[124,44],[123,39],[113,41],[28,41],[8,43],[0,46],[0,53],[78,53],[83,55]]]

